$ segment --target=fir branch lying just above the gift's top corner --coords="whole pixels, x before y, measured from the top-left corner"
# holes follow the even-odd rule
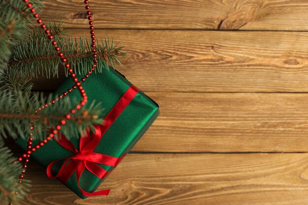
[[[83,75],[92,67],[92,47],[91,42],[81,37],[76,39],[69,36],[58,36],[57,41],[65,51],[65,57],[68,59],[77,74]],[[97,71],[101,72],[103,68],[108,69],[109,64],[115,66],[121,65],[120,57],[124,57],[123,47],[115,46],[114,41],[109,39],[99,43],[96,41],[97,51]],[[26,51],[26,52],[25,52]],[[59,64],[63,64],[57,52],[54,50],[49,39],[31,38],[16,47],[13,58],[8,63],[10,69],[19,70],[22,75],[37,77],[38,74],[47,77],[57,76]],[[66,71],[66,75],[68,75]]]

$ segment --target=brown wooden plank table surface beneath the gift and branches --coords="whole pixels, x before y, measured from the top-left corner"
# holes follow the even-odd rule
[[[89,34],[82,0],[42,19]],[[161,114],[99,189],[79,199],[31,163],[23,205],[308,204],[307,0],[92,0],[95,35]],[[52,91],[64,79],[37,79]]]

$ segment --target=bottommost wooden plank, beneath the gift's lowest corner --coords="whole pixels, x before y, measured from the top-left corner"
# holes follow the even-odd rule
[[[31,166],[32,165],[32,166]],[[79,199],[31,163],[22,205],[304,205],[308,154],[128,154],[100,189]]]

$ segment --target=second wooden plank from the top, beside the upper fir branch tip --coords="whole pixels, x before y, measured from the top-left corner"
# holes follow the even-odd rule
[[[88,36],[73,29],[74,36]],[[308,92],[308,33],[97,30],[128,57],[118,69],[144,91]],[[64,79],[34,80],[54,90]]]

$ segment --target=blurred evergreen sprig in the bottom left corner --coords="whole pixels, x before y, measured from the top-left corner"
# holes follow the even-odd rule
[[[0,139],[0,205],[8,205],[11,202],[18,205],[29,191],[29,180],[24,179],[23,183],[19,183],[22,165],[20,162],[13,163],[15,160],[16,158]]]

